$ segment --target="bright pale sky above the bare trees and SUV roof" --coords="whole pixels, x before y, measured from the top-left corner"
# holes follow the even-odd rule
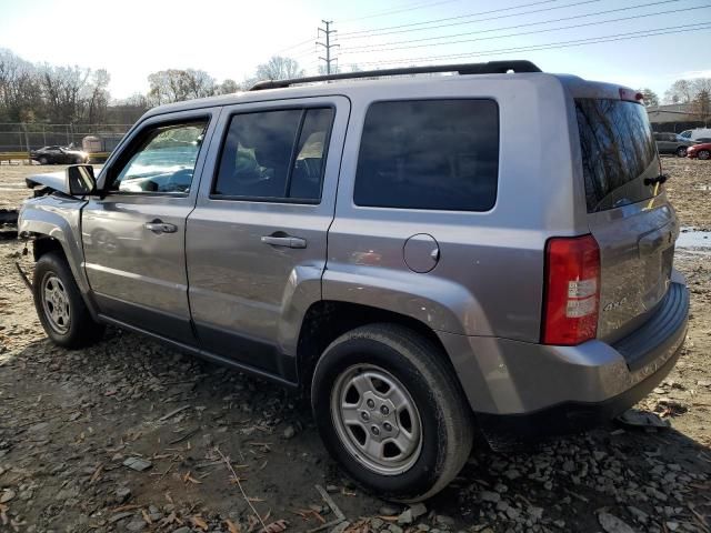
[[[316,73],[322,20],[347,69],[529,59],[660,97],[677,79],[711,77],[711,0],[0,0],[0,48],[107,69],[120,99],[169,68],[241,81],[281,54]],[[629,39],[649,33],[663,34]],[[601,38],[615,40],[589,43]]]

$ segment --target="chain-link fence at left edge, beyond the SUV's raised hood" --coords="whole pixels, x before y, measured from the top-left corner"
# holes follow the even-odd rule
[[[27,152],[51,145],[111,152],[131,125],[0,122],[0,152]]]

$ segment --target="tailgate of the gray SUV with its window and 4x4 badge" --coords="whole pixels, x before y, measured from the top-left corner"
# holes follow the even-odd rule
[[[614,342],[667,294],[679,223],[663,185],[644,107],[577,98],[590,231],[600,245],[598,336]]]

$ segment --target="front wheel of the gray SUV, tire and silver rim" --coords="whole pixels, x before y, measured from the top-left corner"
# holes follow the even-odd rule
[[[52,298],[47,295],[50,289],[52,293],[63,295],[52,303]],[[59,252],[48,252],[37,261],[32,295],[42,328],[54,344],[70,349],[83,348],[103,335],[104,325],[91,318],[69,264]],[[66,318],[52,318],[51,312],[57,309],[64,310],[58,314]]]

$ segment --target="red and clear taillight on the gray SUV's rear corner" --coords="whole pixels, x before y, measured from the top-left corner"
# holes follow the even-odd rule
[[[600,247],[592,235],[549,239],[544,295],[544,344],[574,345],[595,338]]]

